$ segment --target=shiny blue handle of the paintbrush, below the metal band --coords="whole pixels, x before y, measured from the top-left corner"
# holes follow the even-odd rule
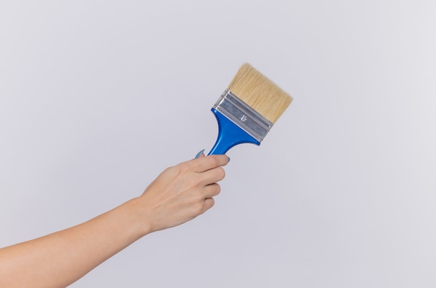
[[[212,108],[212,112],[218,122],[218,138],[208,155],[226,154],[231,147],[242,143],[260,145],[259,141],[242,130],[238,125],[235,125],[231,120],[228,120],[228,118],[219,113],[219,111]]]

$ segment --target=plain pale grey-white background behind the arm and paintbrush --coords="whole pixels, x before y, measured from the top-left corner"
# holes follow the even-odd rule
[[[2,1],[0,246],[212,147],[249,62],[295,98],[216,205],[71,287],[435,287],[435,1]]]

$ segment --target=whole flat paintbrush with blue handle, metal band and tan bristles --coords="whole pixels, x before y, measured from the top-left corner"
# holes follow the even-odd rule
[[[242,143],[260,145],[293,98],[245,63],[212,107],[218,138],[209,154],[226,154]]]

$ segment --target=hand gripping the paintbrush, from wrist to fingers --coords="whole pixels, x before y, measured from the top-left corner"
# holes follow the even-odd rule
[[[148,232],[164,230],[192,220],[215,203],[220,180],[228,163],[226,155],[201,155],[167,168],[139,197]]]

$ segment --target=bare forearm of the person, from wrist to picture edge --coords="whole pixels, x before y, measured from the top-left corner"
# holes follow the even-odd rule
[[[0,250],[0,287],[66,287],[148,232],[137,199],[75,227]]]

